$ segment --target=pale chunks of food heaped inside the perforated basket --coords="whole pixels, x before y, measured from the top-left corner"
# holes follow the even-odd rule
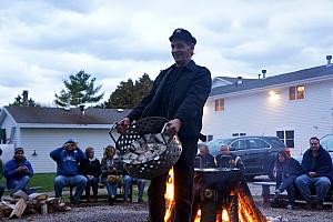
[[[159,160],[167,150],[170,137],[165,133],[149,133],[132,142],[130,149],[121,157],[130,164],[141,164],[151,160]]]

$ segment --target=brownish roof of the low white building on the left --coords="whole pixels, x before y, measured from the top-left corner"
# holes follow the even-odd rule
[[[113,124],[131,110],[88,108],[84,114],[79,108],[3,107],[17,123],[44,124]]]

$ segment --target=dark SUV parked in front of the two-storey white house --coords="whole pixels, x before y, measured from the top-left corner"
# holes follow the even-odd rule
[[[210,153],[214,157],[220,154],[222,144],[229,145],[232,153],[241,157],[245,167],[246,179],[253,179],[255,175],[269,175],[271,180],[274,180],[276,154],[286,149],[276,137],[215,139],[206,144]]]

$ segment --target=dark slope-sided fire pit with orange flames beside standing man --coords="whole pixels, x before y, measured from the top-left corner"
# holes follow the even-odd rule
[[[192,221],[261,222],[266,219],[254,204],[239,169],[195,169]]]

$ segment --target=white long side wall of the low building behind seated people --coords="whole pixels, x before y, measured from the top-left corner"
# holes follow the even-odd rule
[[[56,172],[56,162],[50,152],[61,147],[68,139],[74,139],[83,150],[94,148],[95,157],[101,160],[103,148],[114,144],[108,130],[102,129],[21,129],[22,147],[31,161],[34,172]],[[37,155],[32,155],[36,150]]]

